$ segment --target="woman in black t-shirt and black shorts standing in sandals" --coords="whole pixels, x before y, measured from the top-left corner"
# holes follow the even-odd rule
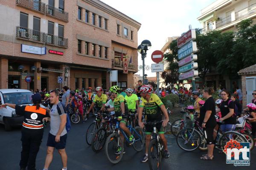
[[[202,125],[204,130],[204,136],[207,142],[208,152],[203,155],[200,159],[213,159],[213,149],[214,149],[214,139],[213,139],[213,130],[217,125],[215,119],[215,101],[212,97],[214,90],[212,88],[204,88],[203,96],[206,98],[205,103],[200,108],[200,121],[199,125]],[[200,102],[201,103],[201,102]]]

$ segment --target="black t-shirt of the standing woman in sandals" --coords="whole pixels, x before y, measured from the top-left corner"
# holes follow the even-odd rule
[[[206,111],[212,111],[211,116],[209,117],[207,123],[206,123],[206,127],[215,127],[216,126],[216,119],[215,119],[215,114],[216,114],[216,110],[215,110],[215,101],[212,97],[209,97],[204,105],[200,108],[200,121],[199,121],[199,125],[201,126],[203,121],[204,121],[204,117],[206,114]]]

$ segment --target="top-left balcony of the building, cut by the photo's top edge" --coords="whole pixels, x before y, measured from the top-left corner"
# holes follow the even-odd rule
[[[37,0],[16,0],[17,6],[32,9],[34,11],[45,14],[45,3]]]

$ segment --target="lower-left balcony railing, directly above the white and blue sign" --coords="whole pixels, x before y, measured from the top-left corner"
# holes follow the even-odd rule
[[[29,28],[24,28],[17,26],[16,27],[16,37],[20,39],[26,39],[30,41],[37,41],[41,43],[45,43],[45,33],[32,30]]]

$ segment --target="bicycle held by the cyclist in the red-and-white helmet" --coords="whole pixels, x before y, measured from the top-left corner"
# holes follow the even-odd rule
[[[160,136],[157,133],[156,125],[162,123],[163,120],[159,122],[147,122],[144,125],[153,126],[153,133],[151,134],[151,140],[148,145],[148,164],[151,170],[159,170],[161,168],[161,159],[164,157],[163,143],[160,140]]]

